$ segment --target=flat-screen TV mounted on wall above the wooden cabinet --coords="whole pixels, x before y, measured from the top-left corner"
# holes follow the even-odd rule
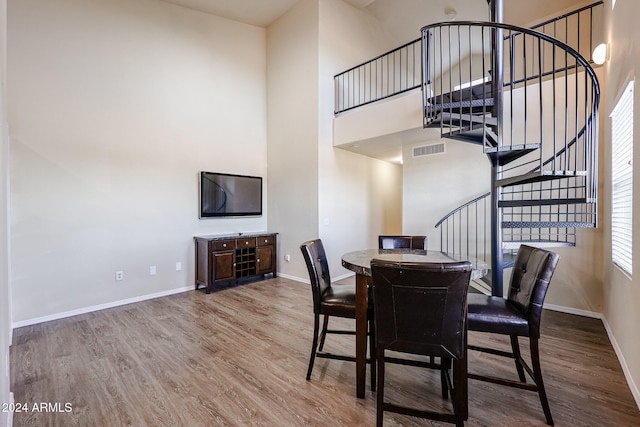
[[[200,218],[262,215],[262,177],[200,172]]]

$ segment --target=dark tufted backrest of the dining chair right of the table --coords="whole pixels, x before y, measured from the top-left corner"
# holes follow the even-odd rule
[[[542,305],[559,259],[554,252],[527,245],[516,255],[508,299],[527,317],[533,338],[540,338]]]

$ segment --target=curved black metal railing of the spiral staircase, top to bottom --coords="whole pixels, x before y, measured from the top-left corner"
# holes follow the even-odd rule
[[[456,74],[455,71],[452,71],[454,67],[451,65],[447,67],[449,70],[448,75],[442,76],[442,73],[440,75],[439,91],[437,90],[438,79],[434,79],[434,75],[436,74],[434,71],[436,70],[437,65],[433,66],[432,62],[424,69],[424,80],[426,82],[426,90],[424,92],[426,94],[425,124],[430,125],[432,123],[436,123],[440,125],[443,136],[451,136],[451,134],[454,136],[460,136],[464,135],[465,132],[472,133],[475,131],[476,137],[478,137],[477,134],[479,133],[478,139],[484,141],[485,151],[488,153],[500,153],[501,150],[509,152],[513,149],[521,150],[518,155],[521,155],[523,152],[525,153],[517,164],[509,165],[508,168],[503,170],[503,173],[507,177],[520,177],[526,176],[527,174],[536,175],[537,180],[540,182],[512,185],[508,187],[508,190],[503,191],[503,200],[500,202],[502,204],[501,209],[503,210],[505,220],[502,224],[503,240],[505,243],[503,248],[509,248],[510,242],[519,241],[546,243],[546,245],[575,245],[576,227],[596,226],[597,207],[595,202],[597,200],[597,153],[595,150],[597,149],[599,86],[593,69],[576,51],[568,48],[568,46],[565,46],[563,43],[552,39],[549,40],[548,36],[531,34],[531,37],[541,40],[538,42],[538,46],[542,46],[542,41],[544,41],[547,47],[546,52],[545,49],[539,49],[537,54],[533,55],[537,65],[530,66],[529,72],[527,72],[526,67],[521,66],[518,69],[517,66],[512,64],[516,62],[514,61],[516,58],[515,46],[519,43],[517,38],[524,38],[528,31],[523,31],[521,29],[515,31],[511,26],[493,23],[456,23],[454,24],[456,28],[453,31],[451,30],[450,24],[444,25],[448,27],[444,34],[450,35],[453,33],[456,35],[455,38],[457,38],[457,40],[466,38],[474,39],[474,37],[470,35],[470,31],[467,33],[459,31],[458,26],[476,25],[480,28],[481,37],[475,38],[475,40],[477,41],[480,39],[485,42],[481,43],[481,47],[479,48],[480,54],[478,55],[478,52],[476,51],[475,55],[479,56],[479,59],[476,62],[481,64],[478,68],[483,70],[481,73],[482,75],[485,75],[486,64],[490,63],[488,53],[484,47],[484,45],[488,43],[487,40],[489,38],[489,32],[485,28],[501,26],[503,29],[510,32],[510,34],[505,37],[505,44],[507,44],[505,51],[508,52],[505,57],[508,58],[509,61],[507,64],[508,66],[505,67],[508,71],[505,73],[505,87],[509,89],[505,98],[510,101],[508,102],[508,108],[505,108],[505,111],[509,114],[509,117],[505,122],[510,123],[511,121],[516,120],[514,117],[515,114],[513,107],[514,90],[517,91],[519,89],[521,90],[523,87],[525,88],[524,90],[521,90],[521,92],[523,92],[521,98],[524,99],[524,112],[522,114],[526,120],[531,115],[527,111],[528,91],[537,90],[538,93],[540,93],[543,85],[546,84],[547,86],[550,86],[550,94],[553,99],[549,105],[551,105],[552,111],[554,112],[551,115],[551,119],[544,120],[543,106],[546,104],[544,104],[542,100],[537,102],[536,107],[539,109],[540,116],[542,117],[538,120],[539,123],[537,123],[537,127],[544,129],[545,126],[550,126],[554,131],[552,133],[553,138],[551,139],[552,144],[548,144],[550,145],[550,148],[547,148],[548,151],[552,152],[552,155],[545,160],[542,160],[545,148],[543,144],[539,144],[539,147],[533,146],[535,149],[527,151],[527,149],[532,148],[532,144],[527,140],[527,132],[523,132],[523,144],[520,144],[520,146],[514,144],[513,126],[509,126],[508,124],[505,126],[509,131],[506,138],[507,143],[505,144],[505,147],[507,148],[505,149],[504,147],[491,145],[497,140],[497,138],[493,139],[491,137],[491,133],[497,133],[500,132],[500,130],[496,129],[497,121],[490,122],[493,102],[482,103],[482,99],[487,93],[489,93],[486,82],[488,79],[485,79],[485,81],[479,82],[475,85],[476,93],[482,93],[482,96],[476,96],[473,98],[473,89],[470,89],[469,87],[465,88],[464,84],[460,83],[462,81],[460,76],[462,76],[463,73],[457,71]],[[427,41],[431,42],[432,46],[447,46],[447,48],[442,49],[448,51],[447,56],[440,62],[440,64],[443,62],[449,62],[449,64],[451,64],[454,62],[451,58],[451,52],[453,51],[455,56],[456,52],[461,52],[464,49],[462,47],[451,49],[449,45],[450,42],[442,40],[442,27],[444,25],[439,24],[437,32],[430,32],[425,38],[430,39]],[[466,37],[460,37],[460,34],[465,34]],[[434,43],[434,38],[440,39],[438,40],[438,44]],[[524,45],[524,43],[522,43],[522,45]],[[428,46],[429,45],[427,45],[427,48],[425,49],[426,52],[433,55]],[[523,49],[523,51],[523,55],[526,55],[527,50]],[[560,60],[558,60],[558,51],[562,52]],[[469,49],[467,53],[471,57],[473,55],[472,49]],[[526,56],[524,56],[524,58],[526,58]],[[545,61],[550,63],[551,66],[545,66]],[[471,63],[472,61],[469,60],[468,62]],[[526,64],[525,61],[522,62]],[[533,64],[536,64],[536,62],[533,62]],[[431,65],[431,68],[429,65]],[[440,69],[445,69],[445,67],[440,65]],[[466,74],[467,73],[465,72],[464,75]],[[473,70],[471,70],[468,75],[470,76],[468,78],[468,82],[473,82]],[[456,78],[458,79],[458,82],[452,83]],[[557,86],[559,86],[559,79],[562,79],[562,85],[566,90],[558,90]],[[447,80],[448,86],[447,84],[443,84],[443,82]],[[573,91],[575,99],[572,100],[572,102],[569,102],[570,97],[566,95],[569,93],[570,87],[565,83],[567,81],[572,83],[573,88],[577,88]],[[536,82],[538,87],[536,88],[533,86],[531,82]],[[436,95],[433,95],[433,92],[430,92],[429,87],[430,85],[433,87],[434,83],[436,88],[434,92],[439,92],[439,94]],[[582,94],[580,94],[579,92],[583,85],[586,89],[582,90]],[[462,86],[462,88],[460,88],[460,86]],[[471,88],[474,87],[474,85],[470,86]],[[446,93],[446,91],[443,90],[445,87],[451,92]],[[527,87],[529,89],[526,89]],[[532,87],[533,89],[531,89]],[[456,91],[458,94],[453,93]],[[559,108],[558,98],[561,98],[563,94],[565,94],[565,100],[564,102],[560,102],[560,106],[562,108]],[[452,100],[452,102],[449,102],[448,105],[446,105],[446,102],[444,101],[447,100]],[[574,115],[570,115],[568,113],[568,111],[571,110],[570,107],[575,107],[576,113]],[[458,109],[457,111],[456,108]],[[564,121],[561,122],[561,126],[558,125],[558,114],[556,114],[557,110],[562,110],[564,112],[565,118]],[[455,115],[456,113],[457,116]],[[463,117],[465,114],[467,115],[466,118]],[[469,116],[473,114],[476,115],[476,118],[472,121]],[[443,116],[445,116],[446,119],[443,119]],[[569,124],[570,116],[572,124]],[[452,118],[455,118],[455,120]],[[546,123],[547,121],[549,121],[550,124]],[[478,123],[482,123],[482,129],[480,132],[477,130]],[[451,132],[452,129],[454,132]],[[451,132],[449,135],[447,135],[447,130]],[[490,133],[487,130],[491,130],[492,132]],[[524,130],[527,130],[526,126],[524,127]],[[540,131],[540,135],[543,135],[542,131]],[[486,145],[487,141],[490,144],[488,147]],[[533,153],[533,155],[527,153]],[[509,161],[511,161],[511,159]],[[505,161],[504,163],[509,163],[509,161]],[[532,168],[531,165],[534,165],[534,167]],[[546,178],[544,178],[545,174],[547,175]],[[559,185],[557,180],[552,178],[562,178],[563,184]],[[514,182],[517,183],[517,181]],[[508,181],[506,181],[506,183],[507,185],[510,184]],[[458,242],[457,248],[464,249],[463,242],[469,240],[468,236],[464,236],[464,230],[473,230],[475,225],[466,223],[463,225],[461,218],[477,217],[477,214],[470,215],[468,212],[465,213],[465,211],[474,210],[477,212],[479,208],[476,205],[480,203],[487,206],[488,203],[486,202],[486,198],[488,197],[488,194],[454,209],[438,222],[436,227],[439,227],[441,230],[441,244],[443,248],[455,246],[455,242]],[[483,216],[485,219],[478,225],[478,227],[486,228],[486,215],[487,214],[485,213]],[[458,218],[457,222],[460,230],[453,231],[451,228],[455,228],[456,217]],[[470,250],[471,248],[469,245],[467,246],[466,250],[469,250],[469,255],[486,259],[486,253],[473,253]],[[511,247],[517,249],[516,245],[511,245]]]

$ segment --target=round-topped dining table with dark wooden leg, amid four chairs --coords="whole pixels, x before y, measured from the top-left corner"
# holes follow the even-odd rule
[[[364,249],[342,255],[342,266],[356,273],[356,396],[359,398],[365,397],[368,288],[371,285],[371,260],[374,258],[395,262],[469,261],[472,265],[472,280],[485,276],[489,271],[487,263],[480,259],[434,250]]]

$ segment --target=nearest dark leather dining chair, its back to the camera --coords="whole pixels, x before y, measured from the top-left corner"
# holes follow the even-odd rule
[[[467,417],[466,306],[471,263],[399,263],[371,261],[376,328],[377,425],[395,412],[463,426]],[[386,356],[435,356],[439,364]],[[385,364],[440,369],[442,394],[451,391],[453,413],[417,409],[385,401]],[[449,367],[453,363],[453,379]]]

